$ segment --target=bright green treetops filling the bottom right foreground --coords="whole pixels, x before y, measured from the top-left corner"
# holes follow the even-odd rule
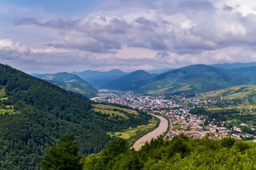
[[[129,149],[123,139],[112,141],[99,156],[82,159],[84,170],[255,170],[256,145],[236,141],[162,136],[141,150]]]

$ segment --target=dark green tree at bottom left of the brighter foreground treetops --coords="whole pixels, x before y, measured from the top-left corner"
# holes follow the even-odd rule
[[[60,143],[47,150],[41,170],[80,170],[78,150],[74,134],[62,136]]]

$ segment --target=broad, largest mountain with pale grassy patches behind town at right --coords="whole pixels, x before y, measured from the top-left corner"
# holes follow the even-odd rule
[[[235,73],[207,65],[190,65],[141,81],[137,90],[150,93],[195,94],[255,82]]]

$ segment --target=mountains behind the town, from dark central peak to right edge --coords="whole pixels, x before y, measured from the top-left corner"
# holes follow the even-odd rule
[[[256,84],[254,76],[256,67],[224,70],[208,65],[189,65],[149,79],[147,77],[140,79],[138,77],[141,76],[136,76],[135,73],[137,72],[133,72],[132,79],[129,79],[130,74],[127,74],[103,87],[123,91],[179,95],[197,94],[236,85]]]

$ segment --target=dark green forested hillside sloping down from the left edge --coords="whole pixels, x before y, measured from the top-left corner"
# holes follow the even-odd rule
[[[79,154],[98,153],[111,140],[105,131],[151,118],[143,112],[109,117],[92,108],[79,94],[0,64],[0,169],[38,170],[45,151],[67,133],[76,136]]]

